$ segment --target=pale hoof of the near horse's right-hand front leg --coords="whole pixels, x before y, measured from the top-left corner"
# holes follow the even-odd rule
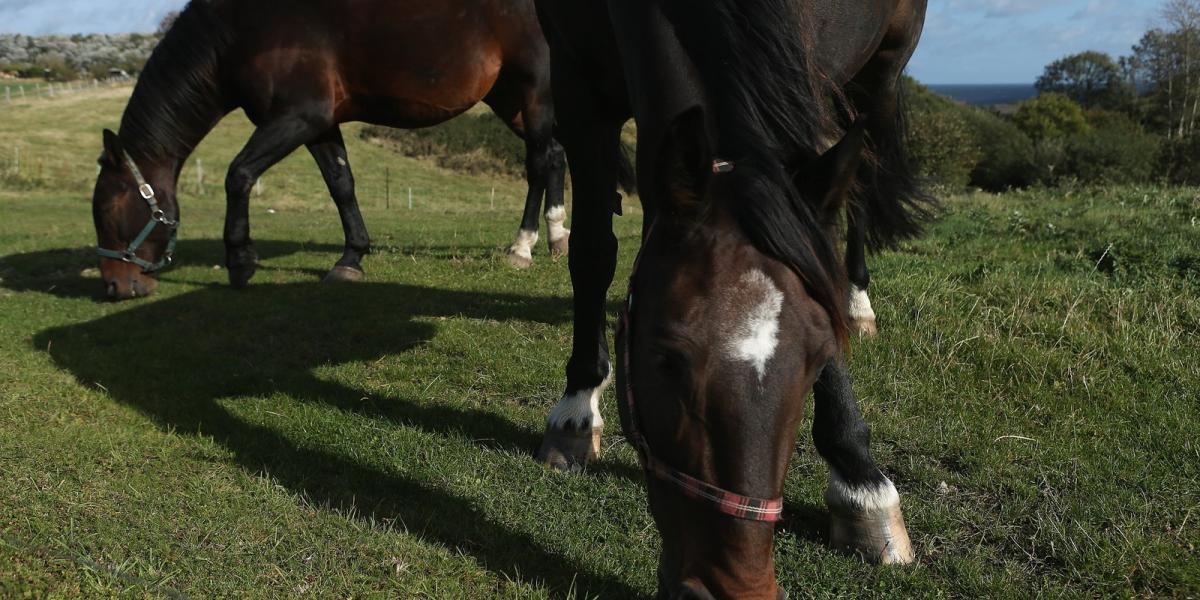
[[[829,545],[871,564],[908,564],[914,557],[900,505],[853,514],[830,509]]]

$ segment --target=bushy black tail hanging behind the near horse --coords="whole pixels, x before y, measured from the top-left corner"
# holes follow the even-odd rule
[[[859,220],[871,250],[895,247],[920,234],[937,199],[924,187],[908,155],[904,85],[895,85],[893,115],[868,114],[868,160],[859,167],[851,218]]]

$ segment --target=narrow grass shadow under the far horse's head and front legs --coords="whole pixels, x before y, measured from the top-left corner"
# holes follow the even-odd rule
[[[342,246],[322,242],[300,242],[284,240],[254,240],[254,248],[263,260],[282,258],[299,252],[323,252],[341,256]],[[224,242],[221,240],[182,240],[179,242],[178,264],[223,265]],[[103,300],[103,286],[95,276],[84,275],[88,269],[96,268],[94,246],[77,248],[55,248],[0,257],[0,288],[13,292],[40,292],[58,298],[91,298]],[[263,266],[271,270],[270,266]],[[325,275],[325,271],[302,270],[313,278]],[[170,281],[170,271],[160,278]]]

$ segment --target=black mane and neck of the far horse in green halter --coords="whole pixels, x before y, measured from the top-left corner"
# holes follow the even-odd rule
[[[167,31],[133,89],[120,136],[138,158],[187,156],[227,112],[217,66],[232,43],[209,0],[193,0]]]

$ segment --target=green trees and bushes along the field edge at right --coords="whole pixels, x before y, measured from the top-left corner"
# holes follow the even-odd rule
[[[966,107],[908,82],[914,158],[949,186],[1200,184],[1200,0],[1166,0],[1126,56],[1046,65],[1015,112]]]

